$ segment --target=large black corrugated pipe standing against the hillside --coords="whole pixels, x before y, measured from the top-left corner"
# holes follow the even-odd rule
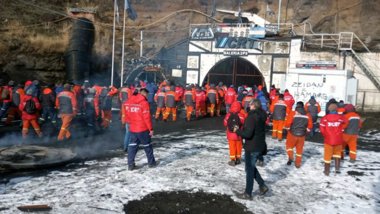
[[[82,81],[88,77],[89,57],[94,45],[94,25],[87,18],[77,18],[65,53],[66,80]]]

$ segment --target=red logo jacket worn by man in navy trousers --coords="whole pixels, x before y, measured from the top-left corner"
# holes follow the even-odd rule
[[[137,94],[128,101],[131,102],[126,111],[126,117],[130,120],[129,130],[132,132],[152,131],[151,107],[147,99]]]

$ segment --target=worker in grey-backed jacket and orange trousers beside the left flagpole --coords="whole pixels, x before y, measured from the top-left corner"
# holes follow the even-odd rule
[[[102,126],[104,129],[110,126],[112,119],[112,97],[117,94],[117,92],[118,90],[114,86],[110,86],[109,88],[104,87],[100,92],[99,104],[102,110]]]

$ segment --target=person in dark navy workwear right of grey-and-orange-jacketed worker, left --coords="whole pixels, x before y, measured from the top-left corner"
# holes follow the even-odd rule
[[[96,89],[91,88],[83,99],[83,107],[87,118],[87,136],[96,134],[95,121],[100,115],[99,99],[95,96]]]

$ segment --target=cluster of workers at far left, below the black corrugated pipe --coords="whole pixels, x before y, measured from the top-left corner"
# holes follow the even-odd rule
[[[58,128],[59,113],[62,125],[57,140],[64,141],[70,139],[70,124],[79,112],[85,113],[87,117],[88,134],[96,133],[96,123],[101,130],[108,128],[112,118],[112,97],[117,92],[115,87],[104,87],[99,83],[95,83],[91,88],[88,80],[85,80],[82,86],[78,81],[57,87],[50,84],[41,92],[38,80],[18,85],[15,81],[9,81],[4,88],[0,87],[0,118],[8,112],[5,125],[9,125],[18,114],[22,120],[22,137],[25,139],[30,125],[37,135],[42,137],[41,125],[48,118],[53,127]]]

